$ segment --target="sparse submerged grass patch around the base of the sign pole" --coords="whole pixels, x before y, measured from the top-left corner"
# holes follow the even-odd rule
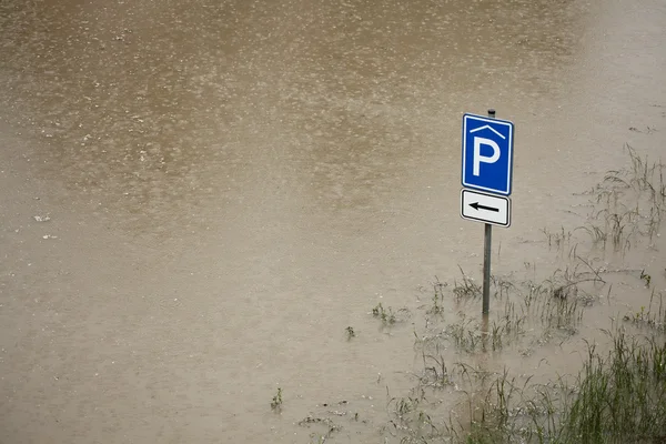
[[[478,321],[470,317],[466,303],[477,303],[475,284],[463,273],[463,282],[453,285],[453,301],[460,311],[455,314],[444,310],[446,285],[438,283],[432,306],[427,307],[426,333],[417,336],[418,345],[445,342],[456,350],[475,353],[500,351],[521,343],[525,333],[535,332],[538,337],[552,337],[559,332],[574,334],[583,320],[584,305],[588,296],[582,285],[603,285],[605,282],[592,265],[584,260],[564,270],[556,270],[543,282],[512,282],[507,278],[492,278],[494,311],[490,319]],[[450,294],[451,297],[451,294]],[[433,317],[432,314],[438,316]]]

